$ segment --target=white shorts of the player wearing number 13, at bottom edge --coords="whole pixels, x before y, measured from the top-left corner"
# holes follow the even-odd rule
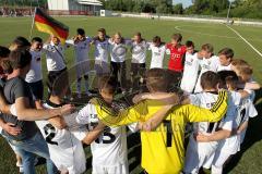
[[[129,167],[127,164],[119,164],[114,166],[93,165],[92,174],[128,174]]]

